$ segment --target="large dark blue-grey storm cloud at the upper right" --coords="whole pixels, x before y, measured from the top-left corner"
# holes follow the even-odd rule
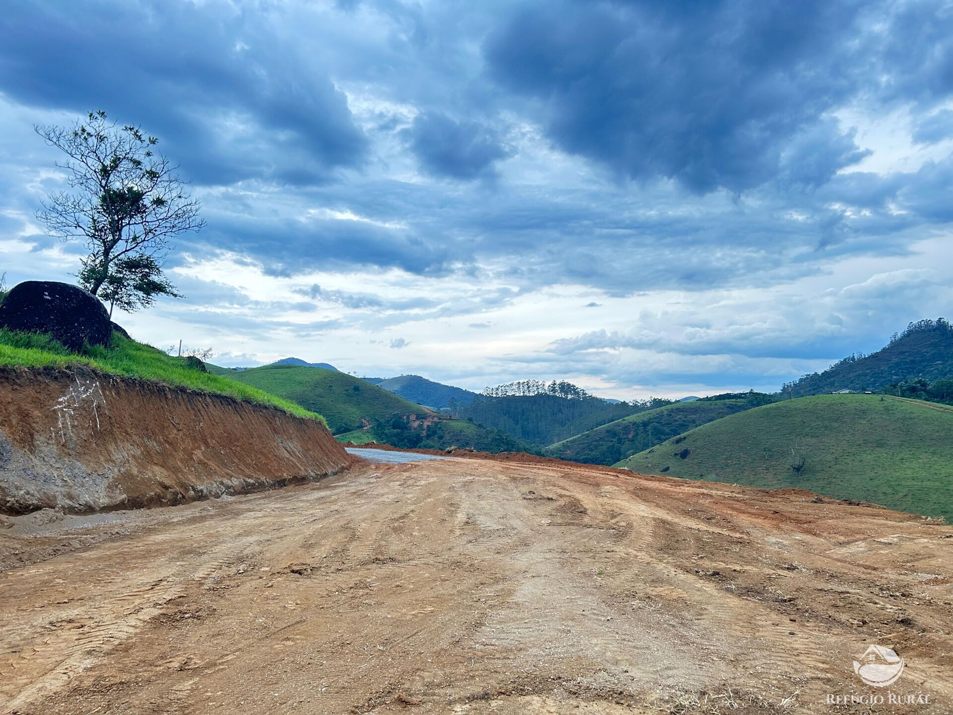
[[[918,20],[949,31],[950,18],[913,5],[891,26],[892,5],[851,0],[532,2],[485,55],[498,82],[538,100],[561,148],[619,175],[739,192],[793,171],[818,186],[862,157],[825,112],[871,91],[926,93],[903,87],[931,56],[912,47]],[[948,36],[931,29],[930,41],[948,53]],[[949,92],[944,72],[934,58],[931,96]]]

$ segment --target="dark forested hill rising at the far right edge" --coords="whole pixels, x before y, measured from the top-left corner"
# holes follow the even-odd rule
[[[784,385],[783,391],[803,397],[836,390],[881,390],[906,378],[930,382],[953,378],[953,327],[943,318],[911,323],[882,350],[843,358],[822,373]]]

